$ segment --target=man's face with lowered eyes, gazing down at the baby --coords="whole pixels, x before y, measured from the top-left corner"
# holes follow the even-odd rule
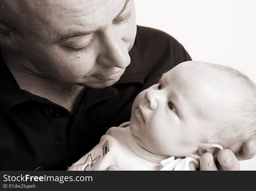
[[[34,3],[27,4],[34,16],[17,42],[40,76],[91,88],[119,80],[136,35],[132,0]]]

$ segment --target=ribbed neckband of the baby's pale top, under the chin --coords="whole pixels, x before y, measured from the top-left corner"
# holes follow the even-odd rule
[[[132,138],[130,127],[126,128],[125,138],[126,138],[126,141],[129,145],[129,147],[131,148],[131,150],[134,151],[141,158],[144,158],[145,160],[149,160],[154,163],[160,163],[162,160],[170,157],[170,156],[157,155],[157,154],[151,153],[151,152],[143,149]]]

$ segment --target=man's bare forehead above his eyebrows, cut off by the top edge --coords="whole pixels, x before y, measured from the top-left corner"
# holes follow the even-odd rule
[[[70,31],[88,32],[103,28],[120,13],[129,0],[26,1],[41,35],[58,39]],[[30,3],[30,4],[29,4]],[[32,23],[32,22],[31,22]],[[36,29],[38,31],[38,29]]]

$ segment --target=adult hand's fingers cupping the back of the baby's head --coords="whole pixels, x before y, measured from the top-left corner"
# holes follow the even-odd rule
[[[218,168],[213,160],[211,153],[205,153],[200,157],[200,170],[239,170],[240,164],[238,160],[251,159],[256,154],[255,137],[246,142],[239,155],[236,157],[232,151],[223,149],[218,152]]]

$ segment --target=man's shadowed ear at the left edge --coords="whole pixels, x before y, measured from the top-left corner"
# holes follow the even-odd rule
[[[16,48],[16,43],[13,41],[13,32],[6,26],[0,23],[0,45],[1,47]]]

